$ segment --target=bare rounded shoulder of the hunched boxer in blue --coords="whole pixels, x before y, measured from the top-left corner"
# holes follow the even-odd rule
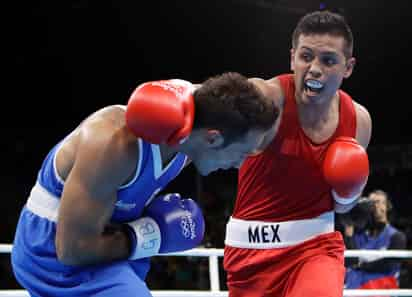
[[[112,191],[135,170],[137,139],[125,126],[124,111],[105,107],[86,119],[67,137],[56,156],[67,185],[83,184],[94,192]]]

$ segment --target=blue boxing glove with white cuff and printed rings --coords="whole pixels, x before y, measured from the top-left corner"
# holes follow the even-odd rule
[[[179,194],[156,197],[144,217],[127,223],[131,231],[131,260],[185,251],[199,245],[205,221],[199,206]]]

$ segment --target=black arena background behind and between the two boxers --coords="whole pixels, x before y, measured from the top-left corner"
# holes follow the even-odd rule
[[[367,190],[390,192],[398,224],[410,228],[409,1],[15,1],[3,9],[0,243],[12,242],[43,157],[85,116],[126,103],[136,85],[148,80],[201,82],[225,71],[262,78],[288,72],[292,31],[303,14],[320,7],[344,14],[355,36],[357,65],[343,89],[373,120]],[[226,198],[223,213],[209,205],[224,221],[235,186],[235,171],[200,178],[189,168],[170,187],[211,195],[216,203]],[[221,246],[216,234],[223,229],[209,229],[215,234],[209,234],[209,244]],[[0,280],[7,278],[6,270],[0,270]]]

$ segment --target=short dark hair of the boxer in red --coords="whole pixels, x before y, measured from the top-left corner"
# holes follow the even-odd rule
[[[300,35],[330,34],[341,36],[345,40],[344,54],[352,57],[353,34],[345,18],[337,13],[323,10],[304,15],[292,34],[292,46],[297,48]]]

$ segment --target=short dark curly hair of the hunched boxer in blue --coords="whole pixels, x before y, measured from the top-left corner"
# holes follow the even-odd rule
[[[193,128],[222,131],[228,145],[246,135],[250,129],[272,127],[279,111],[246,77],[227,72],[207,79],[194,92]]]

